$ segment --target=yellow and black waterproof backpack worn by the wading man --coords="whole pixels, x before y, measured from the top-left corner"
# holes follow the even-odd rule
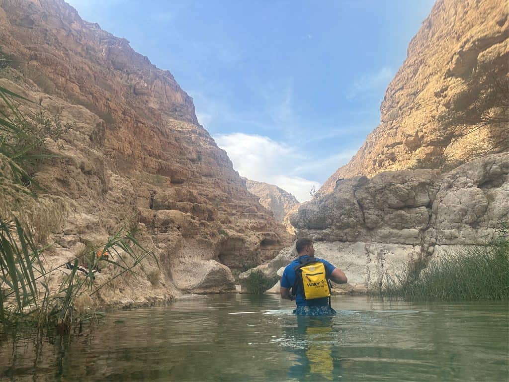
[[[297,289],[300,289],[298,286],[302,286],[306,300],[330,297],[330,286],[324,263],[320,261],[308,262],[297,266],[295,271],[297,278],[292,293],[295,294]],[[300,284],[301,282],[302,284]]]

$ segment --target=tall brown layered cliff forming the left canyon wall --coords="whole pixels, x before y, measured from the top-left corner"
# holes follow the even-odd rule
[[[98,302],[227,291],[228,267],[269,260],[289,244],[198,124],[192,99],[128,41],[83,21],[62,0],[6,0],[0,42],[11,60],[0,86],[34,102],[22,110],[44,110],[70,126],[47,140],[56,156],[35,175],[73,209],[49,238],[56,245],[48,261],[64,263],[83,242],[105,241],[126,222],[155,250],[157,280],[145,277],[157,269],[146,260],[139,276],[104,288]]]

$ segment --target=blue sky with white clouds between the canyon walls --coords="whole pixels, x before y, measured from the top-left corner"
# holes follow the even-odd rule
[[[168,69],[247,178],[301,202],[347,163],[434,0],[67,0]]]

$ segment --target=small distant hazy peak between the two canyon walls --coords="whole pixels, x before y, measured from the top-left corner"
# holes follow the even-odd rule
[[[282,223],[288,212],[299,204],[299,201],[292,194],[274,184],[243,179],[246,180],[248,191],[260,198],[260,204],[272,211],[278,222]]]

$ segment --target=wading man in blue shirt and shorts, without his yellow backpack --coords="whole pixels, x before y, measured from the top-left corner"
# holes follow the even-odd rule
[[[290,301],[293,300],[290,288],[295,285],[297,277],[300,277],[300,275],[297,275],[295,267],[300,265],[303,261],[308,260],[307,258],[322,262],[325,265],[328,278],[333,282],[337,284],[345,284],[348,282],[347,277],[341,269],[336,268],[326,260],[315,258],[315,249],[313,248],[312,240],[298,239],[295,243],[295,248],[297,250],[297,259],[287,265],[281,278],[281,298],[286,298]],[[297,304],[297,309],[295,309],[293,313],[297,315],[316,316],[335,313],[335,311],[329,307],[328,297],[306,300],[302,290],[297,291],[295,303]]]

